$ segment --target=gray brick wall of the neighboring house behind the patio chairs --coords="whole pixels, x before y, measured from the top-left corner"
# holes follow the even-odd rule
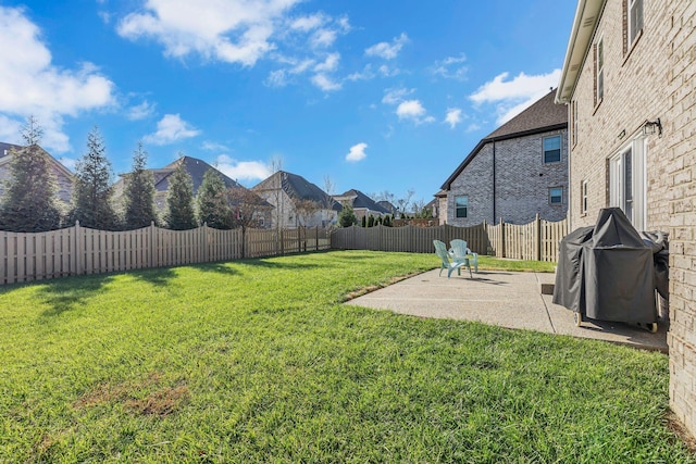
[[[495,142],[495,217],[493,150],[494,143],[486,143],[451,183],[447,196],[447,224],[472,226],[484,220],[495,224],[502,217],[510,224],[527,224],[538,214],[547,221],[561,221],[568,212],[568,136],[567,130],[518,137]],[[543,140],[545,137],[561,136],[561,161],[544,163]],[[550,204],[551,187],[561,187],[561,204]],[[457,218],[455,197],[469,197],[469,217]]]

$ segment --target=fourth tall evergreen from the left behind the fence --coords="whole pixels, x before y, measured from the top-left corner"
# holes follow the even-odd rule
[[[166,213],[164,221],[173,230],[196,228],[194,210],[194,181],[184,166],[184,156],[178,160],[174,174],[169,178],[170,189],[166,195]]]

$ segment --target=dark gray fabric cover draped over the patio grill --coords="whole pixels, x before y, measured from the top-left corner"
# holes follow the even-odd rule
[[[623,211],[600,210],[595,227],[576,229],[561,240],[554,303],[594,319],[656,322],[657,249]]]

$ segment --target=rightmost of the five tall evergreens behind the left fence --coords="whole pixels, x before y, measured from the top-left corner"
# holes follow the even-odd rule
[[[231,229],[234,215],[227,201],[225,181],[215,170],[208,170],[198,188],[198,222],[216,229]]]

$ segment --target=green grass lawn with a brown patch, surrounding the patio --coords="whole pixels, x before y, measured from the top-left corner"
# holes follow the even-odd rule
[[[696,462],[663,354],[340,304],[435,266],[345,251],[0,288],[0,462]]]

